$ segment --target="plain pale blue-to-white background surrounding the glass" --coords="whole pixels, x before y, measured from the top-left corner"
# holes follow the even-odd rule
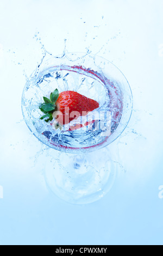
[[[162,245],[162,8],[161,0],[0,1],[1,245]],[[54,55],[64,39],[68,52],[99,51],[133,91],[126,136],[109,146],[118,148],[116,181],[89,205],[65,203],[48,190],[46,150],[21,121],[23,69],[30,75],[42,57],[37,32]]]

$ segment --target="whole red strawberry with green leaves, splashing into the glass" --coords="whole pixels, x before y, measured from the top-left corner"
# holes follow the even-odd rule
[[[40,105],[40,110],[45,113],[40,119],[51,121],[53,117],[57,118],[59,124],[64,125],[70,123],[80,115],[86,115],[87,112],[93,111],[99,107],[99,103],[95,100],[73,91],[61,92],[55,89],[51,93],[50,99],[43,97],[45,103]],[[59,112],[56,112],[59,111]]]

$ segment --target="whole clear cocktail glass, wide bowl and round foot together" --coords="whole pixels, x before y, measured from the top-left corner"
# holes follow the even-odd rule
[[[73,90],[99,102],[99,108],[93,112],[93,129],[88,125],[72,131],[65,126],[60,131],[40,120],[42,97],[49,96],[55,88],[59,92]],[[108,60],[90,53],[66,53],[42,61],[24,87],[22,112],[34,136],[49,148],[62,152],[52,157],[50,164],[48,161],[45,170],[48,187],[55,194],[68,202],[81,204],[94,202],[110,190],[116,170],[108,151],[103,148],[121,135],[132,108],[129,83]],[[101,112],[110,113],[109,135],[99,116]],[[91,118],[88,114],[82,121],[74,120],[72,125]]]

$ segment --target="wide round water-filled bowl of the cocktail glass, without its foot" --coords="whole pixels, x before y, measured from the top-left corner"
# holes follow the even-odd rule
[[[42,97],[49,97],[55,88],[59,93],[73,90],[98,101],[99,108],[84,118],[86,123],[93,114],[94,127],[73,131],[64,127],[60,131],[52,123],[40,120]],[[26,82],[22,95],[23,117],[30,131],[42,143],[68,153],[91,152],[115,141],[126,128],[132,108],[133,97],[126,77],[114,64],[90,53],[66,53],[43,60]],[[108,123],[104,123],[101,113],[109,113]],[[72,125],[80,121],[73,121]]]

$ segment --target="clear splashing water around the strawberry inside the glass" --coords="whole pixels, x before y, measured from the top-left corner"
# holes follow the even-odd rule
[[[48,57],[49,54],[45,52],[37,69],[27,79],[22,97],[22,108],[24,115],[26,115],[27,125],[34,130],[34,135],[43,143],[50,147],[59,147],[59,150],[65,150],[66,147],[68,150],[70,147],[74,150],[77,148],[80,150],[89,148],[91,150],[91,147],[96,145],[105,145],[108,137],[103,136],[102,127],[105,125],[103,124],[104,120],[99,119],[99,112],[110,111],[112,135],[120,124],[123,108],[128,108],[125,101],[122,103],[121,83],[112,77],[106,78],[104,75],[106,64],[110,65],[110,63],[106,63],[106,60],[93,56],[89,52],[67,54],[64,50],[61,56],[51,56],[50,59]],[[85,68],[87,65],[89,68]],[[116,69],[112,65],[111,68]],[[117,70],[117,72],[119,71]],[[120,73],[120,75],[122,74]],[[59,133],[59,130],[54,130],[52,125],[45,124],[45,121],[40,120],[39,104],[42,97],[48,96],[54,88],[58,88],[60,92],[75,90],[98,101],[100,107],[96,109],[94,120],[101,123],[100,129],[90,129],[90,127],[87,129],[85,127],[84,130],[78,129],[76,132],[72,132],[66,128]],[[86,118],[89,120],[89,115]],[[83,128],[87,119],[83,118],[82,120],[83,123],[81,123],[81,119],[72,121],[71,125],[80,124]],[[125,125],[122,123],[122,126],[125,127]]]

